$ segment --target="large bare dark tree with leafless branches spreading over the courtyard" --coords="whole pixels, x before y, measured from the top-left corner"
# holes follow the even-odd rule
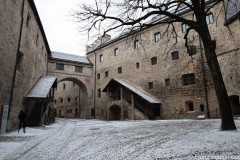
[[[74,16],[79,22],[88,22],[83,27],[88,33],[100,30],[105,34],[128,28],[140,31],[163,23],[172,26],[175,22],[186,24],[185,46],[189,47],[188,35],[191,30],[198,33],[204,46],[219,103],[221,130],[235,130],[231,104],[215,52],[215,41],[206,22],[206,15],[220,3],[225,6],[224,0],[95,0],[92,6],[83,4]],[[191,19],[183,16],[186,12],[192,13]]]

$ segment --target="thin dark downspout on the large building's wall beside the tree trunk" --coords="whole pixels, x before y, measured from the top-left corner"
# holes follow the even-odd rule
[[[204,85],[205,101],[206,101],[206,108],[207,108],[207,118],[209,118],[210,114],[209,114],[209,104],[208,104],[208,91],[207,91],[207,82],[206,82],[206,70],[205,70],[205,67],[204,67],[202,42],[201,42],[201,38],[200,37],[199,37],[199,44],[200,44],[201,65],[202,65],[202,73],[203,73],[203,85]]]

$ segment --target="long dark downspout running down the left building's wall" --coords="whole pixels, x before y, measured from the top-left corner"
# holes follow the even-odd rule
[[[20,29],[19,29],[19,35],[18,35],[16,61],[15,61],[14,70],[13,70],[13,79],[12,79],[12,84],[11,84],[10,98],[9,98],[9,110],[8,110],[7,126],[8,126],[8,123],[9,123],[9,117],[10,117],[10,112],[11,112],[11,107],[12,107],[12,98],[13,98],[14,83],[15,83],[15,80],[16,80],[18,55],[19,55],[20,46],[21,46],[21,40],[22,40],[23,21],[24,21],[24,18],[23,18],[24,5],[25,5],[25,0],[22,1],[22,8],[21,8],[21,23],[20,23]]]

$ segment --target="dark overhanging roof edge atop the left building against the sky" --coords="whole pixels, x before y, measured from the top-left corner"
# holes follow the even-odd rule
[[[41,19],[40,19],[39,15],[38,15],[38,11],[37,11],[36,5],[35,5],[33,0],[28,0],[28,2],[29,2],[30,6],[32,8],[32,11],[33,11],[33,14],[34,14],[34,16],[36,18],[38,27],[39,27],[39,29],[40,29],[40,31],[42,33],[43,41],[44,41],[44,43],[46,45],[47,53],[48,53],[48,55],[50,55],[51,54],[51,50],[50,50],[50,47],[49,47],[49,44],[48,44],[48,41],[47,41],[46,34],[44,32],[44,29],[43,29],[43,26],[42,26]]]

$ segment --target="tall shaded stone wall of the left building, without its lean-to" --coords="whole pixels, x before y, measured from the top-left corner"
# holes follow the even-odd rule
[[[21,23],[21,7],[23,1],[3,1],[1,4],[1,72],[4,78],[1,90],[1,105],[8,103],[10,89],[15,74],[12,102],[10,105],[9,129],[18,125],[18,113],[25,109],[24,96],[36,83],[47,74],[47,57],[49,53],[45,34],[41,30],[36,8],[32,1],[25,0],[23,25]],[[2,18],[3,17],[3,18]],[[19,52],[18,39],[21,33]],[[17,56],[18,52],[18,56]],[[17,57],[17,61],[16,61]],[[14,67],[16,65],[16,72]],[[3,74],[3,75],[2,75]],[[2,80],[2,78],[0,78]]]

